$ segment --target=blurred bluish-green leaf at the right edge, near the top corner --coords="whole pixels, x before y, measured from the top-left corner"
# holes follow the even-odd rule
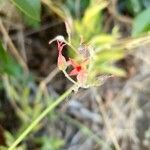
[[[145,9],[138,14],[133,22],[132,35],[137,36],[138,34],[148,31],[150,29],[150,8]]]

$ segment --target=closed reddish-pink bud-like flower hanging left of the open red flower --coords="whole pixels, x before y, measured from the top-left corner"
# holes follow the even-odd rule
[[[65,70],[67,68],[67,61],[65,57],[62,55],[62,50],[65,45],[66,44],[63,43],[63,41],[57,40],[57,48],[58,48],[57,65],[60,70]]]

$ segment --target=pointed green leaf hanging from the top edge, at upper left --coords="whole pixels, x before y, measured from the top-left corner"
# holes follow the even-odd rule
[[[41,1],[40,0],[11,0],[13,4],[25,15],[33,20],[40,21]]]

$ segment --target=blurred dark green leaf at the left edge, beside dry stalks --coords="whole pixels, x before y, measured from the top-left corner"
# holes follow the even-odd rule
[[[22,68],[17,62],[7,53],[0,41],[0,73],[8,75],[20,76]]]

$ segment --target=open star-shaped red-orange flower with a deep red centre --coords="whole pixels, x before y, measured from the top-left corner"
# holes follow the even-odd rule
[[[73,70],[69,73],[70,76],[77,76],[77,81],[84,85],[87,80],[87,59],[78,64],[74,59],[69,59],[69,65],[73,66]]]

